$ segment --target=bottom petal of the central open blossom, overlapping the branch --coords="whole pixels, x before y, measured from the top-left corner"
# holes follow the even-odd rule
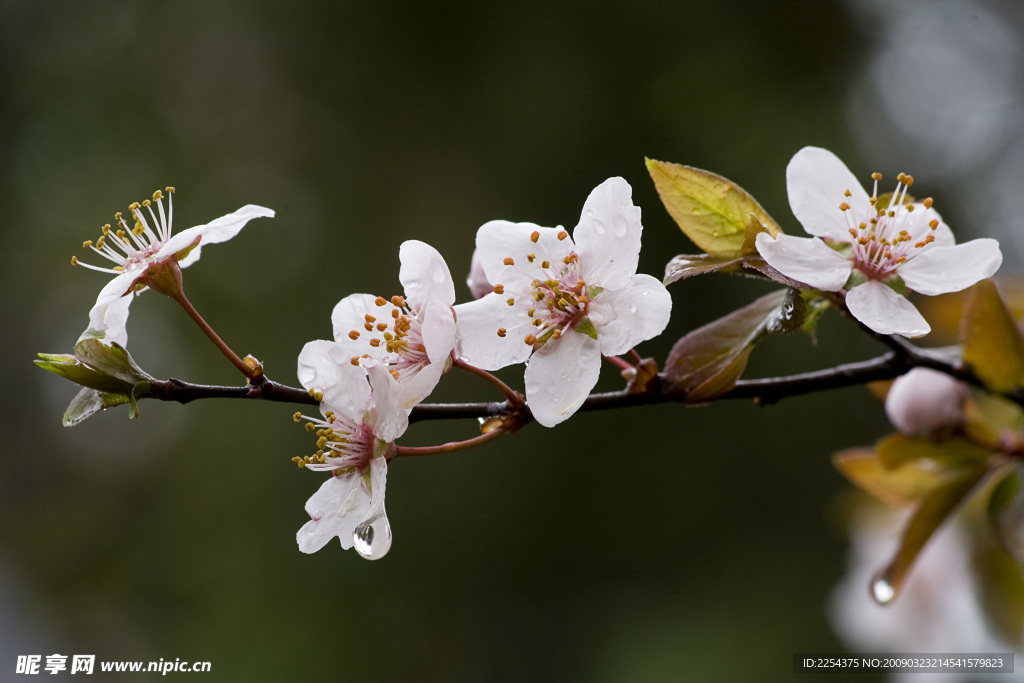
[[[601,372],[597,340],[575,331],[542,346],[526,364],[526,403],[545,427],[568,420],[580,410]]]

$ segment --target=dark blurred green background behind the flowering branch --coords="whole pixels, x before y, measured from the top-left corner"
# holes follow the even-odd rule
[[[1011,3],[970,4],[979,44],[997,42],[991,25],[1019,36]],[[340,298],[398,293],[402,241],[436,247],[466,300],[481,223],[571,227],[609,176],[632,184],[641,270],[660,275],[695,248],[645,156],[735,180],[800,233],[784,169],[817,144],[865,178],[913,172],[958,237],[1019,233],[952,187],[985,159],[1019,159],[1005,119],[1021,72],[992,104],[1004,127],[970,138],[989,156],[943,167],[951,153],[901,132],[886,99],[919,101],[916,81],[871,80],[906,67],[878,62],[895,20],[867,1],[0,4],[0,678],[17,654],[62,652],[210,660],[224,681],[776,681],[794,652],[841,650],[824,610],[845,567],[828,457],[887,431],[863,390],[584,414],[396,461],[394,546],[371,563],[336,543],[296,549],[323,475],[289,460],[312,450],[294,409],[147,401],[137,421],[117,410],[65,429],[75,388],[31,359],[71,350],[105,283],[70,267],[81,242],[168,184],[177,229],[276,210],[204,250],[185,283],[237,351],[290,384]],[[953,123],[977,132],[979,95],[940,92],[972,98]],[[640,350],[664,358],[769,289],[678,283],[669,330]],[[151,374],[238,381],[172,302],[132,309],[129,349]],[[829,315],[816,345],[759,347],[748,376],[879,350]],[[618,386],[604,371],[599,386]],[[502,376],[521,386],[521,369]],[[496,396],[450,377],[436,398]],[[401,442],[474,428],[415,425]]]

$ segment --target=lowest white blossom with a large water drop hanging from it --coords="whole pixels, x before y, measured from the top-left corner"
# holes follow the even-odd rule
[[[296,540],[299,550],[314,553],[338,537],[342,548],[376,560],[391,548],[384,509],[387,461],[409,420],[391,374],[383,366],[353,366],[348,355],[342,345],[323,340],[299,354],[299,381],[321,398],[324,419],[305,418],[318,451],[293,460],[332,476],[306,502],[310,520]],[[296,414],[296,420],[302,417]]]

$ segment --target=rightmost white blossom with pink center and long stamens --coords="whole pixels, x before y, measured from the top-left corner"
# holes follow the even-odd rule
[[[954,244],[932,208],[912,202],[913,178],[899,174],[890,198],[870,196],[836,155],[804,147],[786,168],[790,207],[813,238],[767,233],[757,238],[761,256],[776,270],[818,290],[847,290],[850,312],[879,334],[920,337],[930,327],[896,289],[929,296],[958,292],[990,276],[1002,263],[995,240]]]

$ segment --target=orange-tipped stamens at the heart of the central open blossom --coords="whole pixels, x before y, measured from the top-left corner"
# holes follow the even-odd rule
[[[535,230],[529,240],[535,245],[540,241],[540,232]],[[568,232],[560,230],[558,240],[564,240]],[[537,254],[526,254],[529,263],[536,263]],[[506,265],[515,265],[512,257],[505,259]],[[590,303],[587,283],[580,276],[580,262],[575,252],[564,257],[561,262],[551,263],[541,260],[544,279],[530,282],[529,287],[519,287],[516,292],[508,292],[505,301],[509,306],[528,306],[526,321],[512,330],[498,328],[498,336],[506,337],[509,332],[526,332],[523,342],[540,348],[549,339],[558,339],[562,332],[587,316]],[[495,285],[495,294],[506,294],[504,285]]]

